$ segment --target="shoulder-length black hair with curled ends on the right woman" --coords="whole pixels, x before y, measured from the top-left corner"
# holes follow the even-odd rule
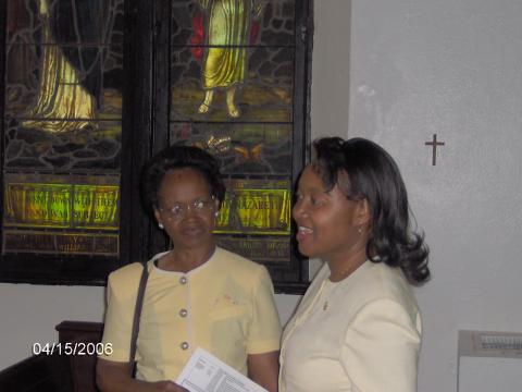
[[[400,267],[411,284],[430,279],[424,235],[410,228],[406,186],[394,159],[381,146],[363,138],[325,137],[313,143],[313,168],[330,191],[339,185],[351,200],[366,199],[372,224],[366,257]],[[346,173],[346,174],[345,174]],[[339,174],[348,184],[339,183]]]

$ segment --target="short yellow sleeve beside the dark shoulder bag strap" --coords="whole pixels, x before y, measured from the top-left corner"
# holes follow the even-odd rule
[[[129,283],[119,278],[122,277],[111,273],[107,285],[102,346],[110,346],[112,350],[105,350],[99,357],[114,362],[128,362],[137,290],[136,287],[133,290]]]

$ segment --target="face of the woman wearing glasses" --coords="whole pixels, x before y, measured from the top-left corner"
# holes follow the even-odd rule
[[[175,248],[198,248],[213,243],[217,200],[201,210],[194,208],[196,201],[211,200],[209,185],[199,171],[187,168],[167,172],[158,191],[158,200],[154,216],[164,225]],[[172,212],[174,206],[184,206],[186,210],[175,217]]]

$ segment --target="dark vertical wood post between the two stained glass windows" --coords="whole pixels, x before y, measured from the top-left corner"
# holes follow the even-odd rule
[[[126,0],[129,7],[125,50],[128,105],[124,110],[124,139],[129,156],[122,161],[122,173],[128,181],[122,183],[122,201],[127,208],[122,208],[122,229],[126,230],[124,238],[128,249],[126,257],[122,257],[124,264],[145,260],[149,256],[150,220],[141,200],[141,170],[152,150],[153,3]]]

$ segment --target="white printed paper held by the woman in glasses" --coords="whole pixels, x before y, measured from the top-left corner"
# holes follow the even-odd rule
[[[176,383],[190,392],[268,392],[201,347],[188,359]]]

